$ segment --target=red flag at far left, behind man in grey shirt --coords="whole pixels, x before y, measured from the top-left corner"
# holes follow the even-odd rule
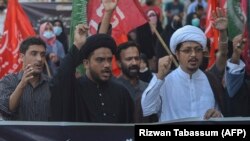
[[[0,45],[0,78],[21,69],[19,45],[23,39],[31,35],[35,35],[35,31],[21,5],[17,0],[9,0]]]

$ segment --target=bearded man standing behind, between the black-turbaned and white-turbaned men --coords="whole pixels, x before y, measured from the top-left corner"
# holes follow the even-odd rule
[[[148,83],[139,80],[140,50],[136,43],[129,41],[118,46],[116,52],[118,66],[122,73],[118,80],[127,88],[135,103],[135,122],[153,122],[156,116],[143,118],[141,110],[141,95]]]

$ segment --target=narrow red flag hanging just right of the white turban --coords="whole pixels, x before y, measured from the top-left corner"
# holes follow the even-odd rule
[[[210,59],[208,68],[215,63],[215,50],[218,49],[218,38],[219,31],[212,27],[212,12],[216,11],[216,7],[219,7],[217,0],[208,0],[208,10],[207,10],[207,19],[206,19],[206,30],[205,34],[207,38],[210,39]]]

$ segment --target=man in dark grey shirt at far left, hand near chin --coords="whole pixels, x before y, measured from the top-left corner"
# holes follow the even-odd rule
[[[7,120],[47,121],[50,114],[49,78],[43,74],[45,43],[36,37],[20,45],[23,69],[0,81],[0,112]]]

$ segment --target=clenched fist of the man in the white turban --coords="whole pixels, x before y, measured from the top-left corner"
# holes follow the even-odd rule
[[[168,74],[171,64],[173,61],[173,56],[165,56],[159,59],[157,78],[163,80]]]

